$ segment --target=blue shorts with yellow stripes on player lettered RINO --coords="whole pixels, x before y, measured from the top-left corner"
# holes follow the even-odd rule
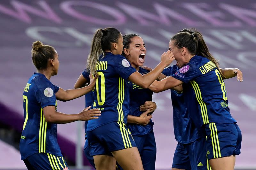
[[[110,122],[87,131],[87,140],[91,156],[109,155],[111,151],[136,147],[130,130],[123,122]]]

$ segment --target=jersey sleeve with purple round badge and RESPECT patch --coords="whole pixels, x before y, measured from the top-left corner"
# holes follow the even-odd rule
[[[188,83],[189,81],[195,79],[199,75],[198,68],[193,67],[190,63],[181,67],[176,73],[172,74],[172,77]]]

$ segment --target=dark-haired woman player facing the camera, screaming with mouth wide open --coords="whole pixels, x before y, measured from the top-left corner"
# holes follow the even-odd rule
[[[146,48],[142,38],[136,34],[124,35],[123,44],[124,47],[122,55],[128,59],[131,66],[133,66],[141,74],[148,73],[146,69],[139,67],[143,66],[143,60],[146,55]],[[124,51],[127,55],[124,53]],[[75,88],[84,87],[89,80],[89,73],[84,70],[77,79]],[[152,102],[153,92],[148,89],[140,88],[132,82],[129,83],[131,83],[129,104],[130,110],[127,118],[127,127],[130,129],[133,139],[138,147],[144,169],[155,169],[156,142],[153,133],[154,123],[151,120],[152,115],[148,115],[149,112],[154,112],[156,109],[156,104]],[[85,95],[85,107],[92,104],[92,100],[88,100],[89,93]],[[142,113],[142,111],[148,112]],[[85,127],[86,126],[87,123],[85,124]],[[88,141],[86,141],[84,145],[84,155],[92,166],[95,167],[93,157],[89,155]]]

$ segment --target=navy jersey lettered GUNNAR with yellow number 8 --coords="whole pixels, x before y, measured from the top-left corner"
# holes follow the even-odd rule
[[[187,109],[198,128],[211,122],[236,122],[229,112],[225,83],[212,61],[196,55],[172,77],[184,82]]]

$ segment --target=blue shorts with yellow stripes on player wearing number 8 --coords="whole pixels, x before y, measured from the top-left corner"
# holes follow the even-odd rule
[[[236,123],[209,123],[205,132],[208,159],[241,153],[242,134]]]

